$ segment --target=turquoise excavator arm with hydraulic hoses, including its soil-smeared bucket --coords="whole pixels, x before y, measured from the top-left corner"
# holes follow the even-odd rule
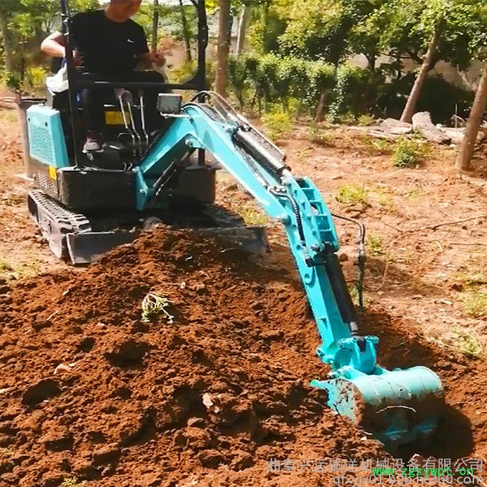
[[[377,365],[378,337],[359,333],[335,225],[317,187],[294,177],[285,154],[224,99],[211,92],[198,99],[205,96],[214,104],[184,104],[136,168],[138,209],[156,204],[184,154],[213,154],[285,229],[321,338],[317,353],[331,369],[327,380],[311,385],[326,390],[328,406],[391,448],[431,435],[440,379],[426,367],[390,372]]]

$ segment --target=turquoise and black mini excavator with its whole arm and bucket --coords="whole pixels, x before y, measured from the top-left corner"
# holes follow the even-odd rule
[[[73,264],[90,262],[132,241],[136,227],[178,221],[174,214],[182,202],[191,202],[193,216],[211,207],[215,170],[205,162],[209,152],[284,227],[321,338],[317,354],[330,367],[325,380],[311,385],[324,390],[330,408],[362,424],[391,449],[425,441],[439,420],[440,378],[422,366],[390,371],[378,365],[378,337],[360,335],[337,257],[333,215],[308,177],[292,175],[285,154],[269,138],[225,99],[205,90],[205,0],[191,3],[198,17],[198,72],[187,83],[158,85],[83,79],[72,60],[67,0],[61,0],[63,35],[70,47],[69,90],[26,110],[35,183],[28,197],[31,216],[58,257]],[[122,91],[107,100],[107,132],[113,142],[95,156],[81,152],[77,94],[86,87],[138,94],[126,99]],[[160,90],[157,106],[145,106],[147,88]],[[197,95],[183,103],[172,90]],[[159,129],[151,134],[144,126],[146,110],[161,115]],[[197,163],[184,163],[193,153]]]

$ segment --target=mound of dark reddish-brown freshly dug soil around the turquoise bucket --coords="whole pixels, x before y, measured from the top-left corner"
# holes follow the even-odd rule
[[[149,292],[166,314],[144,319]],[[293,269],[159,228],[0,293],[1,486],[332,486],[337,472],[306,461],[393,461],[308,385],[327,371]],[[484,456],[486,364],[374,304],[362,322],[382,365],[445,384],[448,414],[415,453]]]

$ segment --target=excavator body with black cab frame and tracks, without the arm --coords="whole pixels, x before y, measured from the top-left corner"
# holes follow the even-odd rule
[[[214,164],[207,163],[204,150],[191,147],[175,161],[175,170],[169,180],[164,179],[164,189],[151,208],[137,207],[134,168],[181,116],[182,93],[199,93],[206,86],[205,0],[191,0],[191,4],[198,24],[195,75],[184,83],[127,82],[77,70],[69,2],[61,0],[68,89],[29,102],[24,141],[29,154],[26,173],[35,185],[29,194],[29,211],[58,257],[74,264],[91,262],[113,246],[133,240],[149,218],[176,225],[216,225],[207,215],[215,200]],[[106,141],[97,152],[82,151],[84,88],[107,94]],[[147,90],[159,93],[157,103],[147,103]],[[147,120],[154,120],[152,126]],[[53,216],[54,206],[60,221]]]

